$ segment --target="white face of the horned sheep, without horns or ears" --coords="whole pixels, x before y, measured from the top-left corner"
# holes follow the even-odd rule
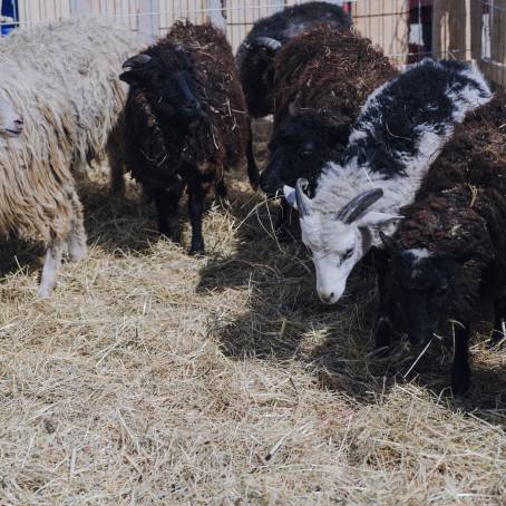
[[[362,259],[362,232],[313,212],[300,220],[302,241],[311,250],[317,271],[317,291],[322,302],[333,304],[344,293],[347,280]],[[366,252],[367,253],[367,252]]]

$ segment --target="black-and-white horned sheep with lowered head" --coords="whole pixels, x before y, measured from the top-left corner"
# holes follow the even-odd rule
[[[313,198],[305,181],[284,187],[324,303],[341,298],[353,266],[381,244],[378,232],[395,232],[400,207],[413,201],[455,125],[490,99],[476,68],[426,59],[368,98],[341,162],[328,164]]]

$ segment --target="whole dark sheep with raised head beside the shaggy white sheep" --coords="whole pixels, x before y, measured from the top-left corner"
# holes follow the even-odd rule
[[[130,85],[125,108],[125,162],[154,198],[168,235],[187,188],[191,252],[202,252],[202,213],[211,185],[226,193],[224,172],[251,142],[250,119],[232,49],[212,25],[176,22],[167,37],[124,64]],[[252,159],[249,159],[252,162]],[[249,164],[252,183],[256,168]]]

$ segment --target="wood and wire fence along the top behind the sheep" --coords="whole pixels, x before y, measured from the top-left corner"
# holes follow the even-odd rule
[[[177,19],[223,28],[234,50],[253,23],[306,0],[0,0],[3,33],[18,26],[96,16],[123,22],[146,39]],[[425,56],[476,60],[506,85],[506,0],[334,0],[357,30],[399,65]]]

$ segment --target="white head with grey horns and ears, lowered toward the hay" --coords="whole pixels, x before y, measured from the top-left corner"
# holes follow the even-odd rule
[[[344,293],[348,276],[373,245],[378,231],[401,216],[370,210],[383,196],[381,188],[362,192],[331,213],[313,205],[306,186],[305,179],[299,179],[295,188],[284,186],[284,196],[299,211],[302,241],[311,250],[317,271],[318,294],[325,304],[333,304]]]

